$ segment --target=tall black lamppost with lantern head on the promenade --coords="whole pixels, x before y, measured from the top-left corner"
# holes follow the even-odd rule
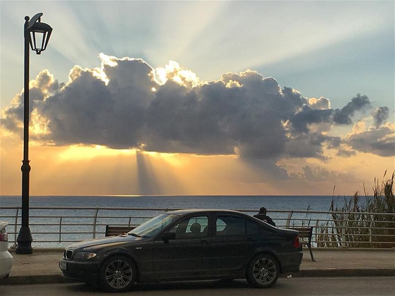
[[[23,127],[23,160],[22,160],[22,226],[19,229],[16,254],[32,254],[32,233],[29,228],[29,44],[37,54],[45,50],[52,28],[41,23],[42,13],[36,14],[29,21],[25,16],[25,86],[24,86],[24,127]],[[32,41],[33,39],[33,41]]]

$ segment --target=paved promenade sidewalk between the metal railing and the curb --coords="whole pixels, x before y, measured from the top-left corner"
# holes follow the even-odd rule
[[[306,252],[307,251],[307,252]],[[16,255],[11,273],[0,285],[65,283],[58,261],[63,250],[34,250],[32,255]],[[395,276],[394,250],[313,250],[313,262],[304,250],[300,272],[293,277],[317,276]]]

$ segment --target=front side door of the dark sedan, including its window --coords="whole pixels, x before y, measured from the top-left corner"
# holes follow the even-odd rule
[[[210,271],[209,215],[190,216],[169,229],[174,239],[154,241],[156,279],[198,278]]]

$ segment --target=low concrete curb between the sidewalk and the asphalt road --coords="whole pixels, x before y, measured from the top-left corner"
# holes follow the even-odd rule
[[[281,277],[286,277],[284,274]],[[327,268],[304,269],[292,273],[292,277],[352,277],[352,276],[395,276],[395,268]],[[64,284],[78,283],[78,280],[66,278],[61,274],[40,274],[26,276],[10,276],[0,280],[1,285],[29,285],[29,284]]]

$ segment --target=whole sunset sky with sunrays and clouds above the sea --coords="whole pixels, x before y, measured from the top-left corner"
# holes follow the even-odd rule
[[[0,194],[325,195],[395,170],[394,1],[1,1]],[[388,174],[389,174],[388,173]]]

